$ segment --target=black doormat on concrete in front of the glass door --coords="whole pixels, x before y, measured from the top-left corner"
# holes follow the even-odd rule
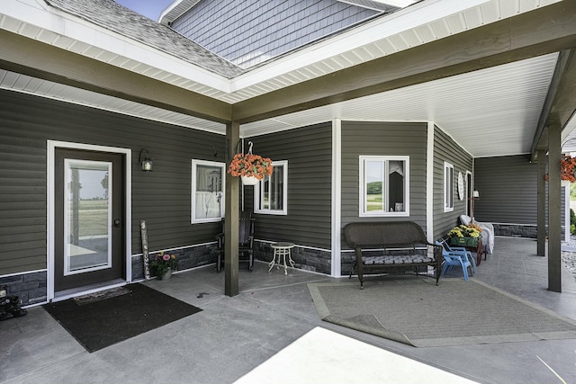
[[[202,309],[142,284],[130,284],[130,293],[78,305],[73,299],[42,307],[93,353]]]

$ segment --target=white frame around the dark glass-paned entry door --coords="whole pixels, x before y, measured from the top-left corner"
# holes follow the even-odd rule
[[[47,140],[47,162],[46,162],[46,177],[47,177],[47,265],[48,265],[48,273],[47,273],[47,298],[48,300],[54,299],[54,199],[55,199],[55,192],[54,192],[54,158],[56,155],[57,148],[68,148],[68,149],[79,149],[79,150],[88,150],[88,151],[98,151],[98,152],[108,152],[113,154],[121,154],[124,155],[124,175],[125,175],[125,195],[124,195],[124,215],[125,215],[125,225],[124,225],[124,236],[126,237],[125,241],[125,253],[126,253],[126,283],[132,281],[132,244],[131,244],[131,236],[132,236],[132,151],[128,148],[120,148],[120,147],[104,147],[104,146],[95,146],[91,144],[80,144],[80,143],[70,143],[67,141],[57,141],[57,140]],[[102,289],[100,287],[99,289]],[[89,293],[86,292],[76,292],[76,294],[83,294]],[[59,298],[58,299],[67,299],[67,298]]]

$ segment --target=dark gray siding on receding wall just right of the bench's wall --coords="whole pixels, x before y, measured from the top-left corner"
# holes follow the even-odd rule
[[[444,162],[454,165],[454,210],[444,211]],[[458,217],[466,213],[467,200],[458,198],[458,172],[465,178],[466,171],[473,172],[473,157],[464,151],[442,129],[434,128],[434,238],[446,236],[458,224]],[[477,185],[476,185],[477,187]],[[474,206],[474,216],[476,206]]]

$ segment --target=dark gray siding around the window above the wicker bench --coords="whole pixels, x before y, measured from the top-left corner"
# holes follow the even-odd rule
[[[427,130],[426,122],[342,121],[342,228],[353,221],[409,219],[426,230]],[[409,218],[359,217],[359,156],[410,156]]]

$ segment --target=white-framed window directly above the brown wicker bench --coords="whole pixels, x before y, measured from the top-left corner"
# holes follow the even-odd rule
[[[410,156],[360,156],[360,216],[410,216]]]

